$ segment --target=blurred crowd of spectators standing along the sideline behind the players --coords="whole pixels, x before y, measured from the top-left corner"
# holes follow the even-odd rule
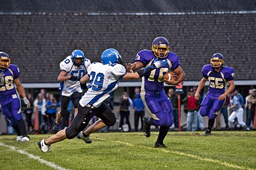
[[[135,95],[133,98],[129,99],[129,104],[127,105],[127,109],[123,109],[123,96],[120,99],[119,103],[119,111],[117,113],[117,119],[119,120],[119,130],[120,131],[142,131],[143,126],[143,116],[145,116],[145,107],[139,98],[138,92],[139,88],[135,88]],[[193,96],[194,91],[196,91],[196,87],[193,87],[188,92],[187,96]],[[246,123],[246,126],[249,127],[251,130],[256,129],[256,116],[255,116],[255,99],[256,99],[256,89],[250,89],[249,95],[246,97],[242,96],[239,93],[238,89],[234,91],[235,96],[237,96],[242,108],[243,108],[243,122]],[[127,92],[124,92],[124,95],[127,96]],[[173,118],[174,118],[174,125],[170,131],[178,131],[178,95],[175,94],[174,88],[169,88],[167,91],[167,96],[171,100],[173,104]],[[186,115],[186,121],[181,122],[181,129],[186,131],[203,131],[205,129],[205,124],[203,123],[202,116],[199,114],[199,106],[202,100],[196,103],[197,108],[191,109],[187,108],[187,96],[186,98],[181,99],[181,104],[183,104],[184,110],[182,114]],[[129,96],[127,96],[128,98]],[[26,127],[28,133],[53,133],[53,121],[56,118],[57,112],[60,110],[60,103],[57,102],[54,94],[46,92],[45,89],[41,89],[37,96],[33,96],[30,93],[27,93],[27,99],[29,99],[31,103],[30,108],[26,108],[23,104],[22,113],[23,117],[26,120]],[[235,122],[229,121],[229,116],[231,115],[232,111],[229,109],[230,107],[230,97],[227,96],[226,101],[218,112],[218,116],[215,122],[215,130],[241,130],[241,126],[239,125],[237,119]],[[111,106],[112,110],[114,110],[114,99],[111,96],[111,99],[106,100],[107,104]],[[138,108],[141,107],[141,108]],[[133,108],[134,113],[131,114],[131,108]],[[189,118],[187,118],[188,110],[193,111],[191,112]],[[71,120],[74,118],[74,106],[73,103],[70,102],[68,106],[68,115],[63,117],[61,120],[61,125],[59,129],[63,129],[69,126]],[[38,116],[35,116],[38,114]],[[134,115],[134,122],[130,122],[130,115]],[[221,117],[223,116],[223,120],[225,122],[225,127],[221,127]],[[139,118],[141,119],[140,127],[139,126]],[[94,117],[91,120],[90,124],[97,121],[98,118]],[[131,124],[134,123],[134,129],[131,129]],[[156,127],[157,128],[157,127]],[[10,126],[10,123],[6,121],[6,129],[7,133],[15,133],[13,127]],[[101,132],[108,131],[109,128],[102,129]],[[118,129],[117,129],[118,130]]]

